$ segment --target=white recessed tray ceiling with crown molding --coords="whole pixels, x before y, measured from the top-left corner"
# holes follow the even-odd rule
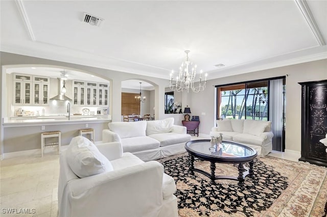
[[[327,1],[0,4],[2,51],[159,78],[184,50],[208,79],[327,58]]]

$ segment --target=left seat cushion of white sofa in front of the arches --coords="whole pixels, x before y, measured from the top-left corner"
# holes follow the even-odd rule
[[[132,137],[122,139],[124,152],[137,152],[158,148],[160,142],[150,137]]]

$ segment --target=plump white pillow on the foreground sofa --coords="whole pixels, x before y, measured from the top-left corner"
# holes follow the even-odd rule
[[[72,139],[66,150],[69,167],[80,178],[113,170],[110,161],[87,138]]]

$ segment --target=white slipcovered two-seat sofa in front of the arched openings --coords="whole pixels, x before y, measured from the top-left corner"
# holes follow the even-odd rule
[[[174,125],[174,118],[155,121],[112,122],[102,131],[102,142],[121,142],[124,152],[144,161],[185,152],[191,140],[186,127]]]

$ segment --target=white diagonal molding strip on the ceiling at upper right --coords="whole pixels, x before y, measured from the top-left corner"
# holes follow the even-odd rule
[[[300,11],[302,12],[302,15],[306,18],[310,29],[312,31],[312,33],[315,35],[318,43],[320,44],[320,46],[326,45],[325,40],[323,39],[321,32],[318,28],[318,25],[315,21],[315,19],[312,16],[312,13],[310,11],[310,8],[306,2],[306,0],[295,0],[298,8],[300,9]]]

